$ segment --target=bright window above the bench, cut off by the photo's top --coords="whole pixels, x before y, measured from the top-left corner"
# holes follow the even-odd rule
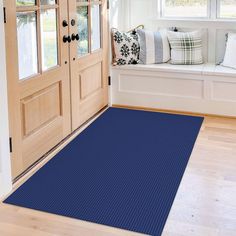
[[[161,17],[236,19],[236,0],[159,0]]]

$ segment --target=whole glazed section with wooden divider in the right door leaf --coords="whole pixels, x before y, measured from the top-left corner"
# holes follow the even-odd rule
[[[101,6],[98,0],[77,0],[77,25],[80,40],[78,57],[89,55],[101,48]],[[86,16],[87,12],[87,16]]]

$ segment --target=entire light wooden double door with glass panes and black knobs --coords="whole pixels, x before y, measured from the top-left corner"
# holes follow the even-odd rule
[[[106,0],[6,0],[12,174],[108,103]]]

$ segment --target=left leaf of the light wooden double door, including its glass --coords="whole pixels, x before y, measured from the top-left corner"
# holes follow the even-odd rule
[[[46,2],[5,2],[13,178],[71,132],[67,1]]]

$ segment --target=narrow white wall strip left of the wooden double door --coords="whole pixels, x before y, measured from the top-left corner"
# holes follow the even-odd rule
[[[3,0],[0,0],[0,198],[9,193],[12,188],[9,153],[5,34],[2,9]]]

